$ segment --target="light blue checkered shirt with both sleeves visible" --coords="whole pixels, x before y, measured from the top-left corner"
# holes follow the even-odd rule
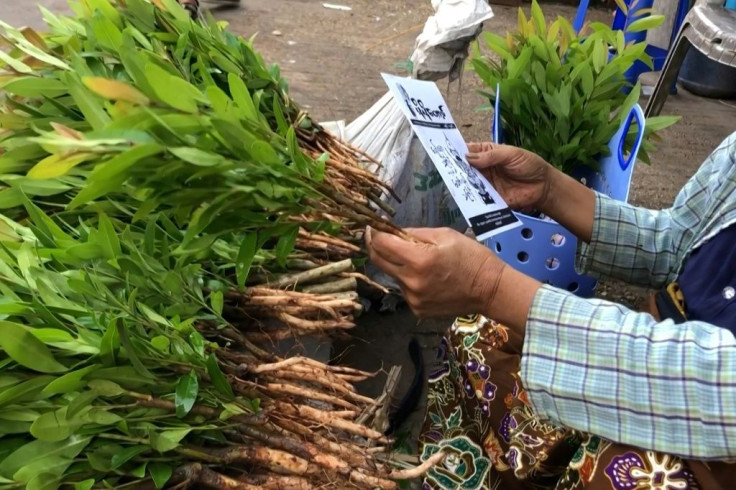
[[[669,209],[597,195],[593,238],[579,248],[578,268],[659,289],[676,280],[693,250],[734,223],[736,133]],[[686,458],[736,459],[736,339],[725,328],[658,323],[543,286],[529,313],[521,369],[544,419]]]

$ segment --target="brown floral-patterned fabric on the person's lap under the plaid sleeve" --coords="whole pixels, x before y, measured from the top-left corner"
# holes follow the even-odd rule
[[[519,381],[511,335],[473,316],[457,319],[443,338],[420,443],[423,460],[447,456],[423,490],[736,488],[736,464],[683,461],[540,421]]]

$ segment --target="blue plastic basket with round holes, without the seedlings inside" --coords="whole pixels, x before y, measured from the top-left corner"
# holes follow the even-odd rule
[[[503,142],[498,87],[496,94],[492,133],[494,141]],[[638,134],[634,148],[626,156],[624,140],[633,121],[637,123]],[[644,121],[641,107],[634,106],[629,117],[611,139],[608,145],[611,155],[601,159],[600,171],[594,172],[586,168],[574,177],[598,192],[620,201],[627,201],[636,156],[644,135]],[[520,213],[517,213],[517,216],[523,223],[521,227],[487,240],[486,246],[495,250],[507,264],[539,281],[567,289],[578,296],[593,296],[596,280],[578,274],[575,270],[577,238],[555,221],[532,218]]]

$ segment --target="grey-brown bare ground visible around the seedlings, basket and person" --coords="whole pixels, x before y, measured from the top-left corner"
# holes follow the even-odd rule
[[[0,0],[0,20],[13,25],[39,25],[40,16],[31,3],[51,10],[64,10],[65,0]],[[370,107],[386,88],[381,72],[400,73],[396,63],[410,55],[414,38],[431,14],[429,0],[340,0],[351,11],[324,8],[321,0],[244,0],[232,10],[216,10],[218,18],[244,35],[258,33],[256,46],[264,57],[281,65],[290,81],[296,100],[320,120],[352,120]],[[493,3],[493,2],[492,2]],[[548,3],[548,2],[544,2]],[[572,18],[574,8],[543,5],[548,15]],[[504,33],[516,22],[514,8],[494,6],[495,17],[485,28]],[[595,11],[596,20],[609,13]],[[488,138],[488,116],[474,108],[483,103],[476,94],[480,88],[472,72],[451,87],[440,84],[446,93],[453,116],[462,125],[467,140]],[[650,208],[668,206],[675,193],[698,168],[702,160],[728,134],[736,129],[736,102],[695,97],[684,90],[669,99],[667,114],[680,114],[683,120],[663,133],[660,151],[652,165],[636,168],[631,201]],[[617,283],[604,283],[599,295],[637,306],[645,291]],[[406,376],[399,392],[413,373],[407,356],[411,337],[424,347],[425,358],[432,360],[439,335],[447,321],[421,322],[406,309],[393,315],[369,314],[351,332],[351,338],[336,342],[334,351],[344,362],[367,369],[392,364],[405,366]],[[376,394],[382,380],[363,388]],[[419,414],[415,422],[420,419]]]

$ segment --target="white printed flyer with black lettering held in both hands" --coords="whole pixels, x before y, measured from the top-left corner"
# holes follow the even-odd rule
[[[437,85],[386,74],[383,79],[477,239],[521,226],[496,189],[465,159],[468,146]]]

